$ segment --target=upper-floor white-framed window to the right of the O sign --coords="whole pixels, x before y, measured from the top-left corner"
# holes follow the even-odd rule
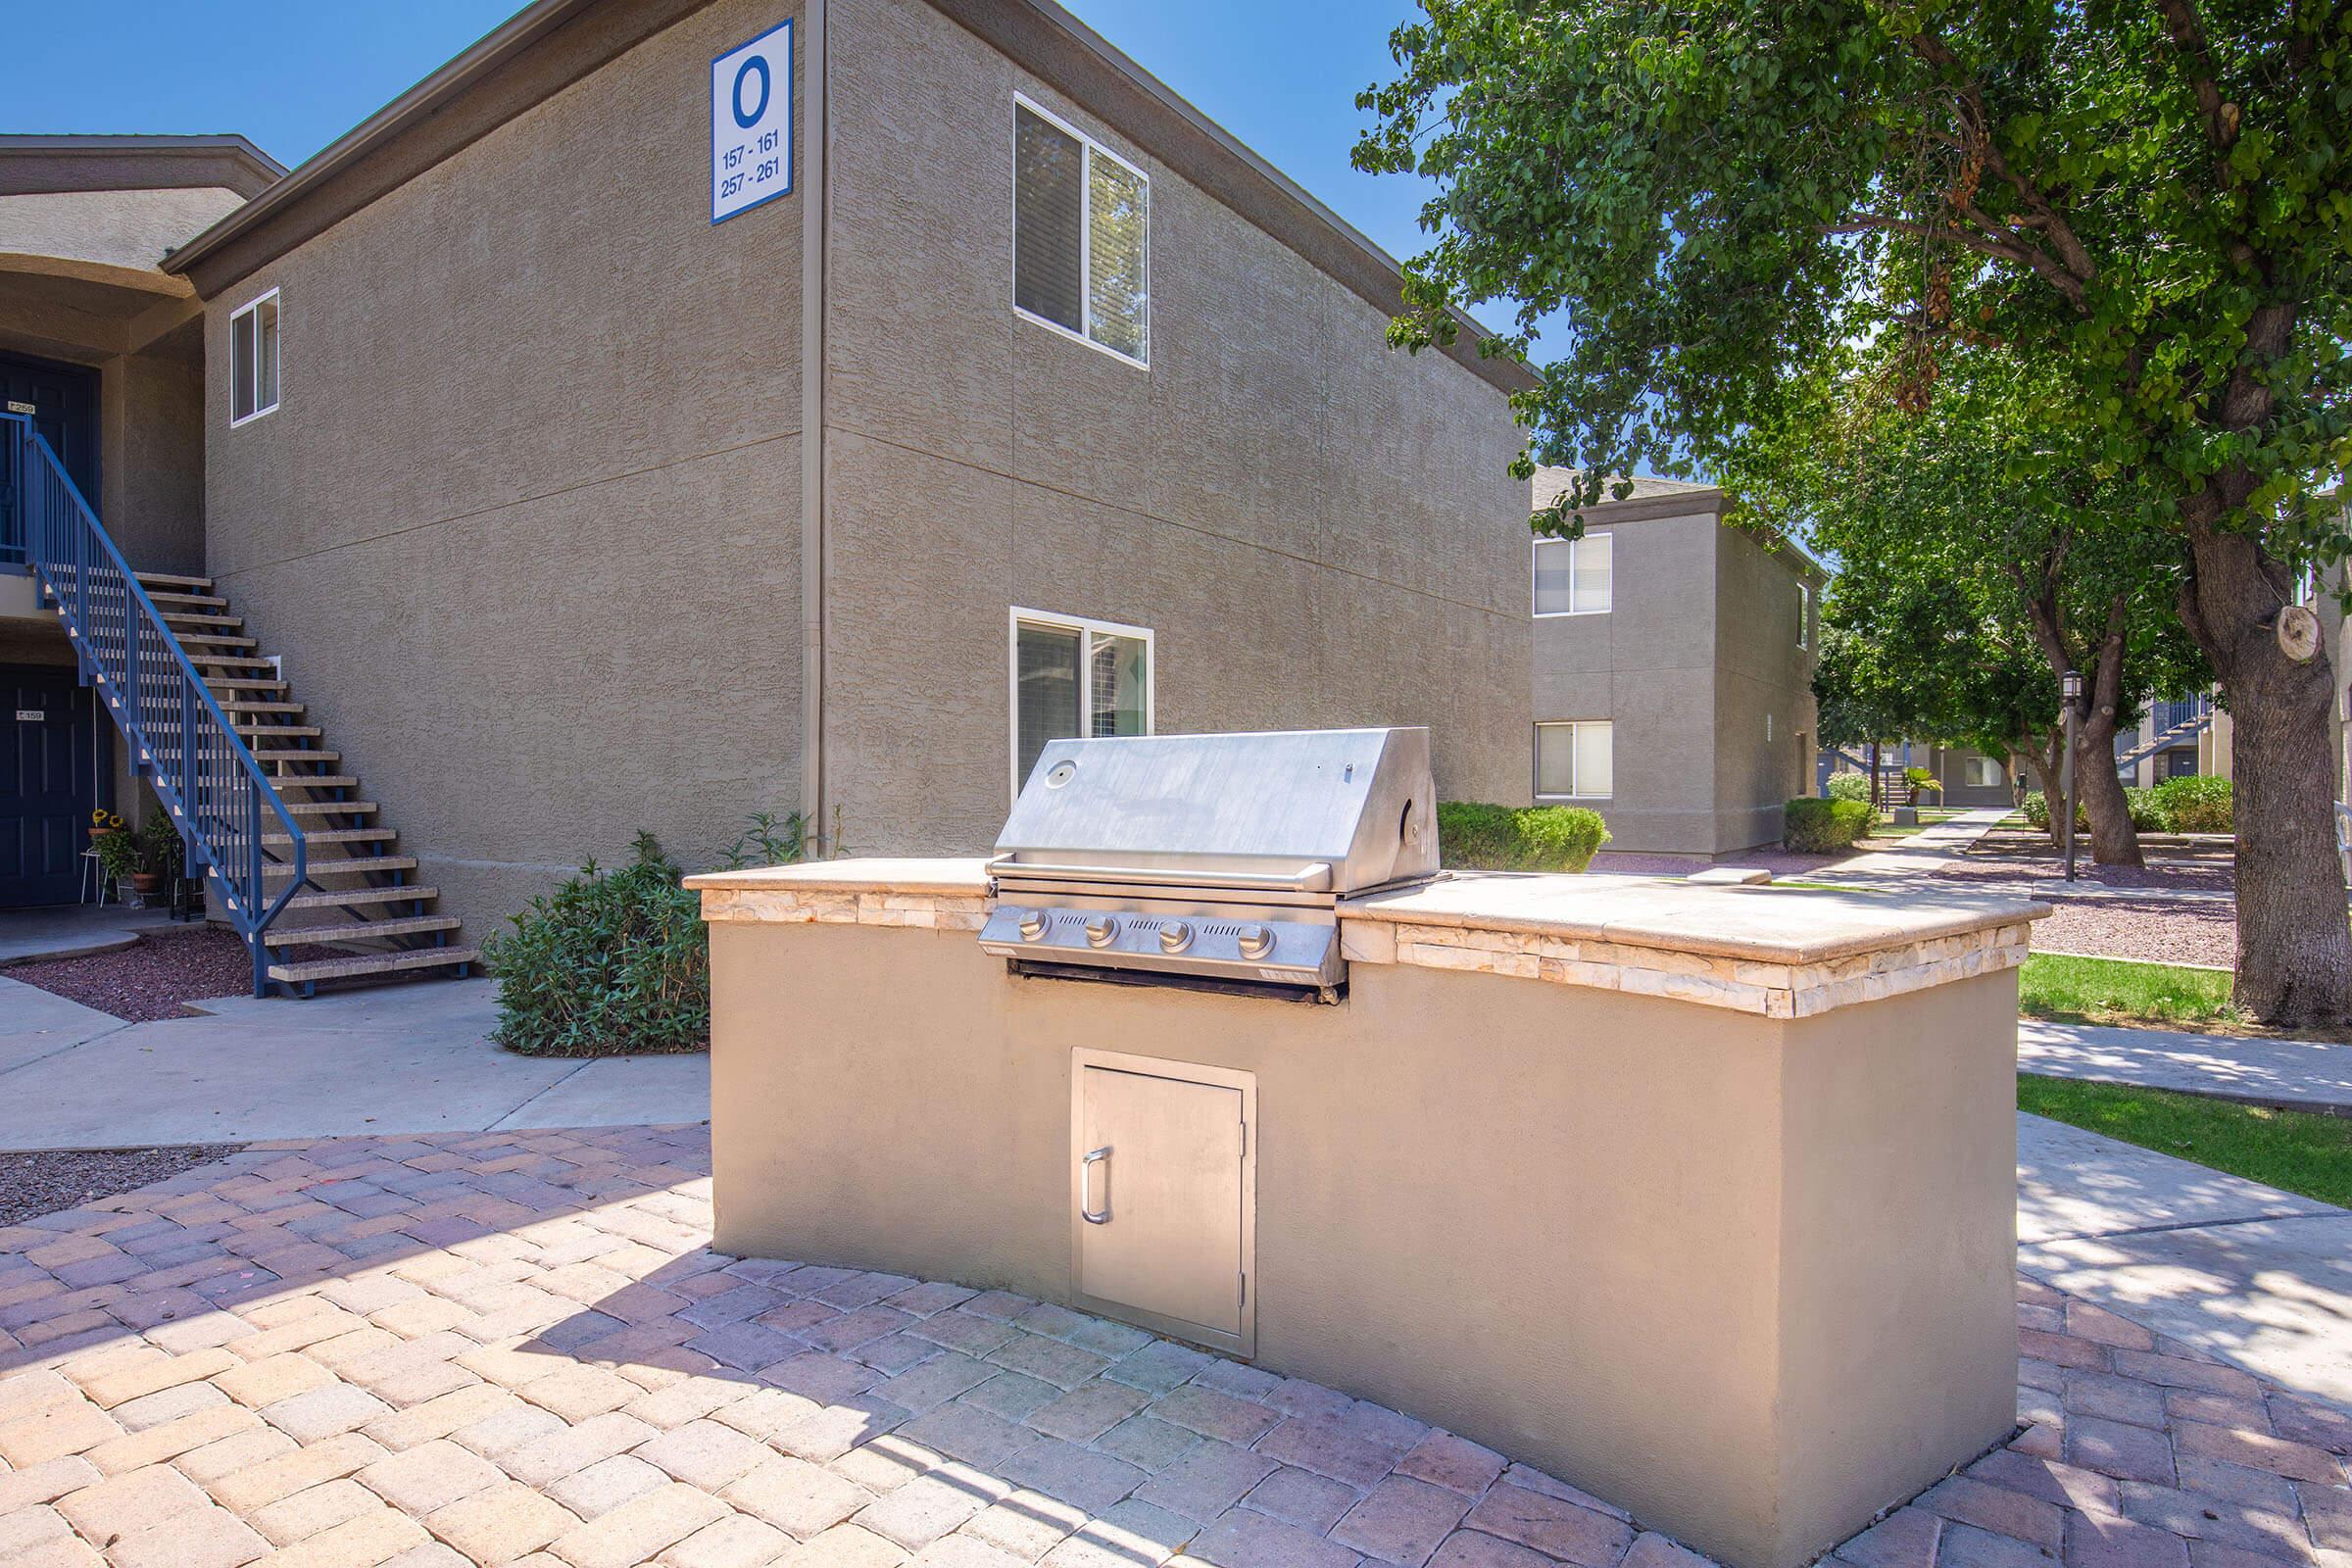
[[[1014,94],[1014,313],[1152,360],[1152,181]]]

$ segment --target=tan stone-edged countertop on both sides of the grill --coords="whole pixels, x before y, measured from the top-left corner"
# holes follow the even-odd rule
[[[978,931],[981,858],[811,860],[687,877],[703,919]],[[1698,886],[1656,877],[1446,872],[1338,905],[1355,964],[1414,964],[1675,997],[1766,1018],[2025,961],[2044,903],[1893,889]]]

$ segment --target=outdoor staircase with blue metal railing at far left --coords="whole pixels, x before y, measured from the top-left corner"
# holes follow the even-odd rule
[[[254,954],[254,994],[320,980],[468,973],[341,752],[209,578],[132,571],[24,416],[0,416],[0,541],[24,550],[73,639],[82,684],[181,830],[214,914]],[[292,797],[292,799],[289,799]],[[329,947],[327,957],[285,954]]]

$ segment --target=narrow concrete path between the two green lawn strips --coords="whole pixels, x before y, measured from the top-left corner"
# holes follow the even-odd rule
[[[2018,1072],[2352,1114],[2352,1046],[2018,1020]]]

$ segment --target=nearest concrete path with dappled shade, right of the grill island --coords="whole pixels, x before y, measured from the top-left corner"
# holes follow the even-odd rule
[[[2352,1408],[2352,1211],[2020,1114],[2018,1267]]]

